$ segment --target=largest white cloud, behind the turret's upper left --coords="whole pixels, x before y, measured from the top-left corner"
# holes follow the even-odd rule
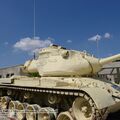
[[[22,50],[26,52],[36,52],[38,49],[44,48],[52,44],[52,41],[48,38],[41,40],[39,37],[32,38],[23,38],[16,42],[13,47],[17,50]]]

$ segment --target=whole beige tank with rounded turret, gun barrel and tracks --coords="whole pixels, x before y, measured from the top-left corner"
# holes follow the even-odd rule
[[[27,76],[0,79],[1,109],[17,120],[105,120],[120,110],[120,86],[95,75],[118,59],[44,48],[21,68]]]

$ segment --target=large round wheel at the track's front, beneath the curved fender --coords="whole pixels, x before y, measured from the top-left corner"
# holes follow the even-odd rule
[[[72,105],[72,110],[76,120],[93,120],[94,107],[91,106],[90,99],[78,97]]]

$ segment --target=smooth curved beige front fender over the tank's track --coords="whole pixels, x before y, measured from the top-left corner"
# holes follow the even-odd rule
[[[87,93],[93,99],[98,109],[103,109],[115,104],[112,95],[106,90],[100,88],[82,88],[80,90]]]

